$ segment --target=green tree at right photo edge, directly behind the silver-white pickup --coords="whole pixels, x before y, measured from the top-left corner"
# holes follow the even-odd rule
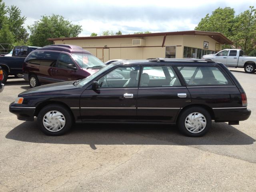
[[[232,36],[234,46],[242,48],[249,55],[256,46],[256,9],[250,6],[249,10],[236,16],[236,20],[233,27],[235,34]]]

